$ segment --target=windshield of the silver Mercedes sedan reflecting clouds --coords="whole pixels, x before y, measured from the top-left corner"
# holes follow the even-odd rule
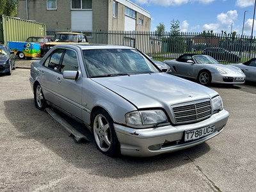
[[[129,76],[160,72],[145,56],[134,49],[83,50],[90,77]]]

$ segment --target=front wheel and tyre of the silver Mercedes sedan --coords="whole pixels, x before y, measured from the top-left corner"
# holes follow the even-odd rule
[[[113,120],[103,109],[93,115],[93,136],[96,146],[102,154],[116,157],[120,154],[120,143],[117,140]]]

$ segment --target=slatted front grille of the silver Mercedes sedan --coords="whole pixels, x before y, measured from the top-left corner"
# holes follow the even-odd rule
[[[175,124],[188,124],[190,122],[199,122],[212,115],[210,100],[184,104],[182,106],[173,106]]]

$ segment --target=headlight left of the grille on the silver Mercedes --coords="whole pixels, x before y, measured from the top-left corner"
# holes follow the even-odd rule
[[[125,115],[125,120],[128,125],[134,126],[154,125],[168,122],[168,118],[162,110],[132,111]]]

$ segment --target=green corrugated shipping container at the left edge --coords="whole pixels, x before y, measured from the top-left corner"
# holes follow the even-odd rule
[[[0,44],[25,42],[29,36],[46,36],[45,24],[0,15]]]

